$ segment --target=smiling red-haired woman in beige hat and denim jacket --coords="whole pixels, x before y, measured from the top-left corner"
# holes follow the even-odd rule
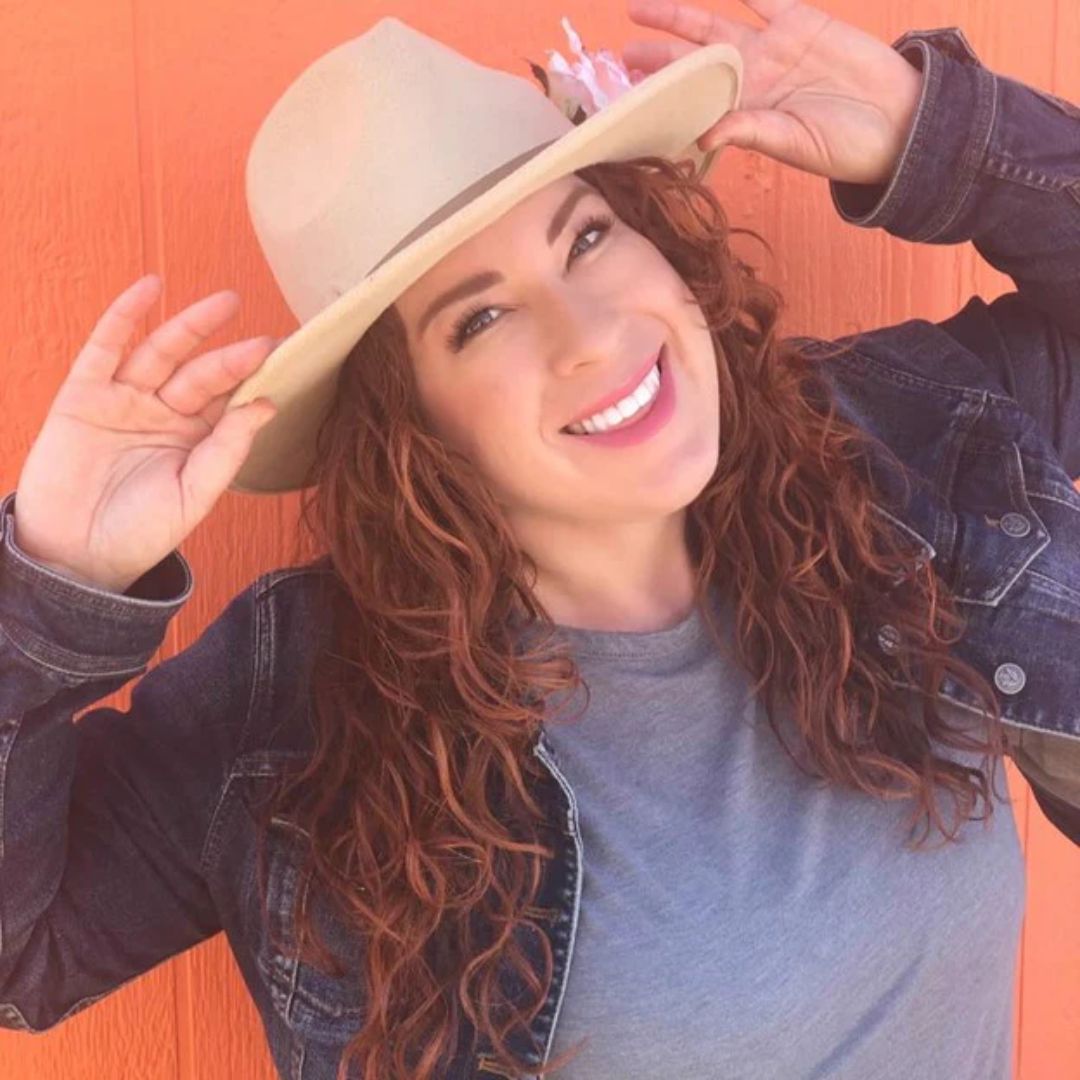
[[[1004,737],[1067,813],[1063,746],[1080,735],[1064,710],[1024,712],[1070,673],[1023,694],[1005,659],[1032,629],[1057,634],[1045,646],[1075,625],[1080,406],[1036,389],[1051,386],[1034,373],[1050,321],[972,301],[864,351],[778,341],[780,298],[730,252],[700,177],[673,145],[626,148],[659,151],[686,125],[698,150],[753,146],[828,177],[867,221],[901,199],[937,205],[913,186],[933,175],[931,132],[972,195],[972,136],[993,153],[1016,131],[978,127],[993,117],[978,108],[946,138],[964,93],[1008,92],[1014,119],[1027,109],[1080,153],[1077,116],[957,59],[947,31],[902,54],[808,4],[748,6],[764,28],[632,3],[686,42],[627,49],[657,81],[625,112],[495,156],[486,187],[464,183],[456,146],[507,150],[514,124],[494,129],[514,112],[472,121],[476,141],[429,123],[430,164],[377,210],[357,199],[360,234],[386,230],[361,254],[314,194],[349,198],[325,180],[322,127],[288,129],[311,144],[276,185],[285,127],[260,132],[253,219],[303,323],[272,353],[255,339],[193,354],[234,294],[126,360],[159,282],[105,313],[24,465],[17,523],[12,496],[0,516],[0,686],[18,717],[8,1026],[58,1023],[224,929],[282,1076],[1009,1075],[1024,882],[996,791]],[[486,75],[396,21],[376,30],[411,109],[450,85],[483,100]],[[738,58],[697,52],[717,42]],[[460,83],[432,75],[443,63]],[[659,109],[672,87],[685,112]],[[534,105],[515,106],[523,124]],[[342,110],[326,144],[346,125]],[[602,131],[610,152],[586,160]],[[418,137],[400,137],[403,157]],[[449,211],[421,222],[409,200],[446,176],[462,180],[442,192]],[[424,228],[406,228],[406,204]],[[1031,222],[1053,234],[1061,203],[1024,205],[1028,240]],[[1020,276],[1020,243],[986,252]],[[370,258],[367,273],[335,278],[330,251]],[[1062,316],[1062,336],[1077,329]],[[1055,355],[1075,369],[1067,342]],[[1011,397],[1024,348],[1031,380]],[[932,378],[945,360],[948,381]],[[1021,402],[1048,428],[1057,410],[1052,444]],[[978,472],[1013,460],[1008,485]],[[959,483],[935,486],[946,468]],[[139,681],[130,713],[83,717],[73,785],[58,783],[76,746],[63,721],[140,670],[190,594],[178,543],[226,487],[298,478],[324,554],[238,595]],[[1053,604],[1032,598],[1037,577]],[[983,610],[961,615],[976,581]],[[969,662],[983,658],[968,639],[995,661]]]

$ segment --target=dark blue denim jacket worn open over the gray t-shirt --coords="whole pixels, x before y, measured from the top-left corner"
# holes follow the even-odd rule
[[[972,297],[940,323],[841,338],[847,351],[822,372],[841,413],[909,471],[914,497],[890,516],[953,585],[969,620],[954,648],[999,692],[1011,755],[1047,816],[1080,842],[1080,109],[990,72],[956,27],[893,48],[924,72],[906,146],[887,184],[831,183],[834,205],[908,241],[971,240],[1016,292]],[[190,567],[174,551],[123,595],[83,585],[19,550],[13,505],[11,492],[0,503],[0,1026],[52,1028],[224,930],[281,1076],[334,1080],[360,1026],[359,973],[333,978],[292,953],[285,916],[310,882],[285,816],[269,837],[272,942],[252,814],[311,748],[302,721],[325,556],[235,595],[146,672],[127,712],[89,708],[148,666],[191,595]],[[894,647],[894,627],[865,629],[883,653]],[[972,705],[948,681],[942,697]],[[551,1052],[583,867],[573,792],[542,731],[532,752],[557,851],[538,899],[555,970],[532,1030],[542,1054],[526,1054],[536,1063]],[[325,924],[345,951],[345,928]],[[523,945],[539,972],[535,943]],[[442,1075],[505,1075],[462,1025]]]

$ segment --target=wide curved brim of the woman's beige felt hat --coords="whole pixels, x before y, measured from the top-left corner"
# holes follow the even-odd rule
[[[283,340],[230,395],[227,408],[269,397],[276,413],[256,433],[230,490],[280,495],[303,488],[315,436],[338,374],[365,330],[413,282],[514,205],[600,161],[684,157],[738,107],[742,56],[727,42],[703,45],[647,76],[528,158],[416,241],[380,264]],[[538,89],[539,92],[539,89]],[[715,151],[705,161],[707,171]]]

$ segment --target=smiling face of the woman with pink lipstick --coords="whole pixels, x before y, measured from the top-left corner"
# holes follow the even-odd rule
[[[589,225],[596,216],[612,224]],[[545,524],[670,515],[712,476],[719,415],[703,313],[652,243],[579,177],[517,203],[396,307],[430,422],[532,535]],[[461,337],[450,340],[462,316]],[[636,388],[661,348],[661,379],[671,382],[639,422],[645,431],[666,420],[647,437],[616,446],[564,430],[612,392]],[[644,392],[651,389],[649,380]]]

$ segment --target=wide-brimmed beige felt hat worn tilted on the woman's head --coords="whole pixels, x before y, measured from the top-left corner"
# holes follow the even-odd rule
[[[312,483],[314,442],[346,356],[397,296],[515,203],[584,165],[715,151],[696,140],[738,105],[742,57],[703,45],[575,123],[539,82],[486,67],[399,18],[320,56],[260,124],[252,224],[300,326],[232,393],[269,397],[230,488]]]

